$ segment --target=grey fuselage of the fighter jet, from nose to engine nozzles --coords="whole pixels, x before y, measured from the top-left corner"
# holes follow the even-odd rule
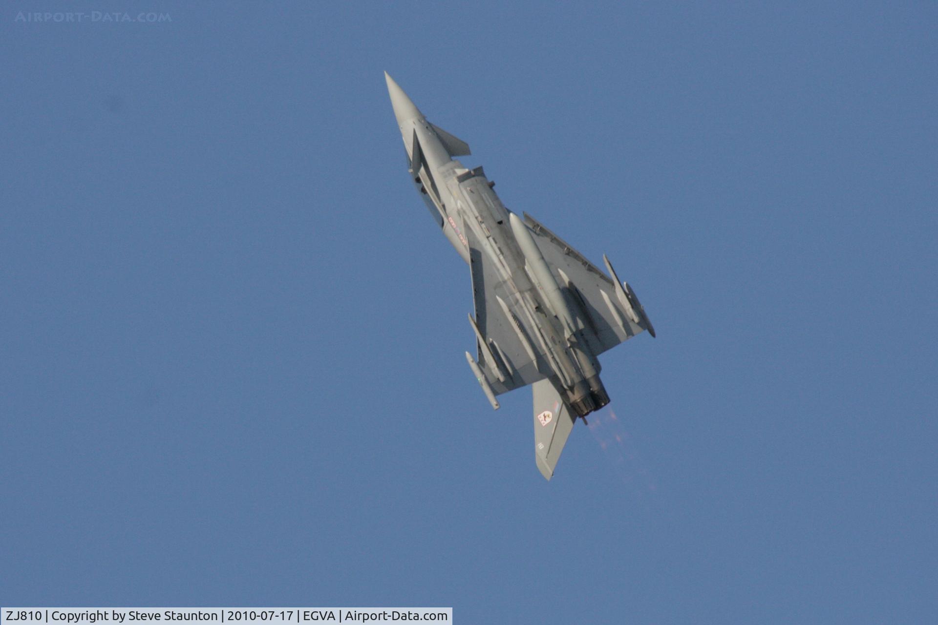
[[[581,305],[552,274],[527,226],[499,200],[481,167],[469,170],[453,158],[451,152],[467,154],[468,146],[462,143],[461,151],[455,143],[461,141],[432,126],[389,78],[388,88],[411,180],[446,238],[467,263],[476,247],[492,263],[499,304],[521,326],[516,331],[535,352],[538,370],[574,413],[585,416],[608,404],[598,359],[578,336]]]

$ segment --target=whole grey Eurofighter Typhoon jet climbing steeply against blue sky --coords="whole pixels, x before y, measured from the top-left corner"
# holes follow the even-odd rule
[[[598,355],[655,329],[635,291],[609,276],[534,217],[509,211],[481,167],[455,156],[469,146],[423,116],[387,75],[411,180],[446,238],[469,264],[475,316],[473,374],[496,395],[532,384],[537,469],[550,480],[577,418],[609,403]]]

